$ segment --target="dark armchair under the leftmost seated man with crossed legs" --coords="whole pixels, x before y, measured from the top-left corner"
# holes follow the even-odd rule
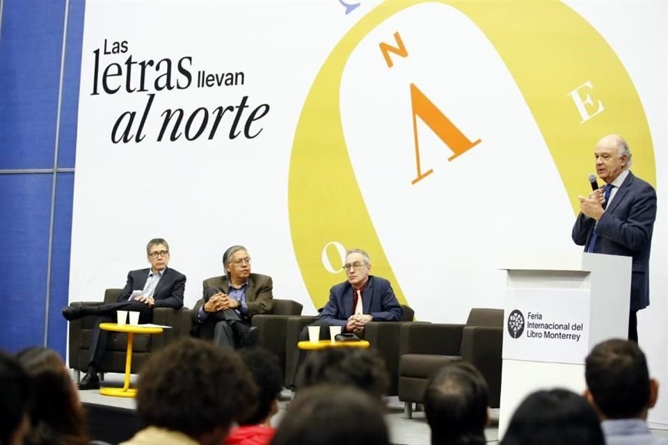
[[[72,302],[70,305],[101,305],[118,301],[122,289],[106,289],[104,291],[104,302],[84,301]],[[171,326],[162,334],[135,334],[132,344],[132,369],[130,372],[137,373],[138,369],[148,358],[152,350],[163,348],[166,344],[177,339],[181,332],[181,314],[186,309],[172,309],[170,307],[157,307],[153,309],[153,323],[157,325]],[[90,334],[93,323],[97,316],[89,315],[70,321],[70,368],[74,369],[77,381],[79,372],[88,370],[88,358],[90,353]],[[109,343],[106,345],[106,353],[100,364],[101,373],[124,373],[125,355],[127,351],[127,334],[121,332],[110,332]]]

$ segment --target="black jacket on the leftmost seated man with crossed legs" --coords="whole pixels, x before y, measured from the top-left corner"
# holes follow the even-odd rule
[[[118,296],[118,301],[127,301],[132,296],[132,291],[141,291],[144,289],[146,280],[148,280],[149,268],[140,270],[130,270],[127,273],[127,283]],[[177,270],[166,268],[160,281],[153,292],[155,305],[153,307],[173,307],[181,309],[183,307],[183,292],[186,289],[186,275]]]

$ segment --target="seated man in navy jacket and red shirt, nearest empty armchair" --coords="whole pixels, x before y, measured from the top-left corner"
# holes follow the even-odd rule
[[[369,321],[400,321],[404,309],[385,278],[369,275],[369,254],[361,249],[346,252],[343,269],[348,279],[332,286],[329,301],[319,314],[319,320],[311,326],[320,326],[320,339],[329,340],[329,326],[341,326],[342,332],[364,336],[364,326]],[[299,334],[299,340],[308,340],[308,326]],[[292,386],[304,352],[297,350],[292,372]]]

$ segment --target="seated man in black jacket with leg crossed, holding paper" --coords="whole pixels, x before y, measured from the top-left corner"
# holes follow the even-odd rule
[[[61,312],[67,321],[86,315],[97,315],[90,338],[90,359],[86,375],[79,383],[79,389],[99,389],[97,370],[104,357],[109,331],[101,330],[100,323],[116,321],[116,311],[139,312],[139,323],[151,323],[154,307],[181,309],[186,276],[177,270],[167,268],[169,245],[162,238],[154,238],[146,245],[150,268],[130,270],[125,288],[118,296],[118,302],[99,306],[67,306]]]

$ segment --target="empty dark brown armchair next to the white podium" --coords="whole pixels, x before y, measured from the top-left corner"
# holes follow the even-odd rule
[[[477,367],[489,386],[489,404],[501,396],[502,309],[471,309],[466,325],[404,323],[399,334],[399,401],[411,419],[427,380],[441,366],[463,360]]]

